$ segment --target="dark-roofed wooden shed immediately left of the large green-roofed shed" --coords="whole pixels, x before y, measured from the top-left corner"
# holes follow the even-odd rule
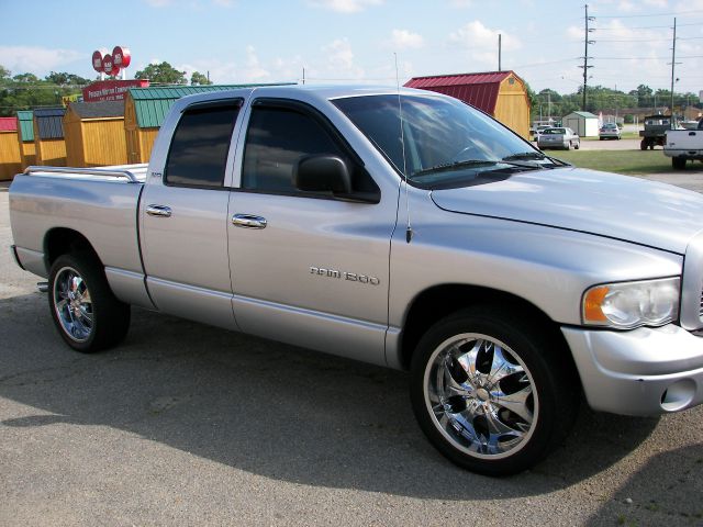
[[[64,115],[69,167],[127,162],[124,101],[72,102]]]

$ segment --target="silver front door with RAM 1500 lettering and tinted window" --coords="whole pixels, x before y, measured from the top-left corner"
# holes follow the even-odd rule
[[[389,253],[398,192],[381,192],[334,126],[303,103],[250,106],[231,194],[230,261],[243,330],[384,365]],[[302,157],[334,155],[358,195],[335,199],[293,187]]]

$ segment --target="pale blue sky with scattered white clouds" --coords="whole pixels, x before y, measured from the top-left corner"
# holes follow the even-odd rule
[[[583,82],[577,0],[0,0],[0,65],[94,78],[96,49],[127,47],[127,78],[166,60],[215,83],[401,85],[512,69],[535,90]],[[589,86],[703,90],[703,0],[591,0]]]

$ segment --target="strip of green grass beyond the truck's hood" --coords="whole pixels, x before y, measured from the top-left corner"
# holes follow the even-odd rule
[[[548,156],[563,159],[579,168],[640,176],[671,172],[671,159],[655,150],[547,150]]]

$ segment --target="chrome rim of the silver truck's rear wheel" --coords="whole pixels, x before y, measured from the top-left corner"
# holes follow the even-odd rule
[[[77,343],[88,340],[93,328],[92,301],[80,273],[70,267],[62,268],[56,273],[52,294],[64,333]]]

